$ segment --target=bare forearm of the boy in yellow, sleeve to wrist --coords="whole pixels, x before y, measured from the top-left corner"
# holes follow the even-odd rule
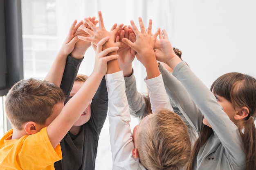
[[[61,141],[88,107],[102,78],[102,73],[92,72],[79,91],[66,103],[61,113],[49,124],[47,133],[53,147]]]

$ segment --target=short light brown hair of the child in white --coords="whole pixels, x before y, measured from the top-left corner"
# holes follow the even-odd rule
[[[176,113],[159,109],[138,134],[141,164],[149,170],[180,170],[189,160],[188,128]]]

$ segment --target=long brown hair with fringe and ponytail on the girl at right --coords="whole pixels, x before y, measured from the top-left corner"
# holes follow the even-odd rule
[[[256,128],[254,124],[254,118],[256,117],[256,79],[252,76],[241,74],[238,72],[231,72],[223,74],[211,85],[211,91],[214,94],[224,97],[231,102],[234,107],[247,107],[249,109],[249,115],[247,118],[234,122],[239,129],[240,135],[243,140],[243,149],[247,158],[247,170],[256,169]],[[206,128],[204,128],[206,129]],[[208,128],[207,128],[208,129]],[[203,131],[210,131],[203,130]],[[212,131],[212,130],[211,130]],[[192,157],[198,154],[199,148],[206,142],[209,135],[201,135],[198,140],[202,142],[196,142],[193,149]],[[206,138],[206,136],[208,136]],[[203,139],[206,138],[206,139]],[[191,158],[192,158],[191,157]],[[190,160],[189,170],[192,169],[193,160]]]

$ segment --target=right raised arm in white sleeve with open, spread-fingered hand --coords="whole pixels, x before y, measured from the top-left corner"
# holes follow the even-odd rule
[[[122,41],[137,52],[137,59],[141,61],[146,68],[147,77],[145,82],[149,92],[152,112],[154,113],[158,108],[167,108],[173,111],[170,100],[164,89],[164,83],[158,69],[154,52],[155,41],[160,29],[157,29],[157,32],[152,34],[152,20],[149,20],[146,31],[141,17],[139,17],[139,25],[141,31],[139,31],[134,22],[131,21],[131,26],[136,36],[135,42],[132,42],[127,38],[123,38]],[[155,93],[157,90],[159,90],[159,93]]]

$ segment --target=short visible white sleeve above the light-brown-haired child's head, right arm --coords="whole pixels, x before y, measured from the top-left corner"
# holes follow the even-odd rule
[[[162,74],[155,78],[144,79],[144,81],[148,88],[152,112],[155,113],[155,110],[159,108],[170,109],[173,111],[173,107],[171,107],[170,99],[164,87]]]

